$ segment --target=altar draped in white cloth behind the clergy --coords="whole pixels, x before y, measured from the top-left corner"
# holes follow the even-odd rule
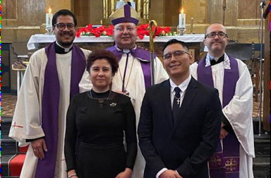
[[[164,47],[164,43],[171,40],[181,40],[183,42],[187,42],[188,47],[190,48],[190,53],[193,54],[195,61],[200,60],[200,42],[203,42],[205,35],[204,34],[187,34],[181,36],[158,36],[155,37],[155,52],[157,56],[162,59],[162,49]],[[42,35],[36,34],[30,37],[28,41],[28,50],[32,49],[41,49],[42,47],[46,47],[49,43],[54,42],[56,37],[54,35]],[[84,49],[105,49],[107,47],[112,47],[114,45],[113,37],[109,36],[80,36],[76,37],[73,41],[79,47]],[[145,49],[149,49],[150,37],[145,36],[142,40],[138,38],[136,44]]]

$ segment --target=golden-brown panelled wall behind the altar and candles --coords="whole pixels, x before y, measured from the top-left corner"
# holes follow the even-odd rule
[[[117,0],[115,0],[116,3]],[[231,40],[239,43],[259,43],[260,0],[227,0],[225,25]],[[186,13],[186,32],[204,33],[207,25],[222,23],[223,1],[217,0],[152,0],[150,19],[160,26],[171,26],[176,30],[181,7]],[[28,54],[26,44],[31,35],[44,33],[45,14],[49,7],[52,13],[62,8],[76,13],[79,26],[100,25],[103,17],[101,0],[2,0],[2,43],[11,43],[11,64],[16,61],[16,51]],[[15,43],[20,45],[14,45]],[[11,88],[16,88],[16,73],[11,71]]]

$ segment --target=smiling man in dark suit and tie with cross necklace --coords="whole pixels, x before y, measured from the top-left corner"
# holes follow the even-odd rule
[[[207,178],[220,133],[218,91],[190,75],[193,56],[184,42],[167,42],[163,59],[170,78],[147,89],[140,112],[144,178]]]

